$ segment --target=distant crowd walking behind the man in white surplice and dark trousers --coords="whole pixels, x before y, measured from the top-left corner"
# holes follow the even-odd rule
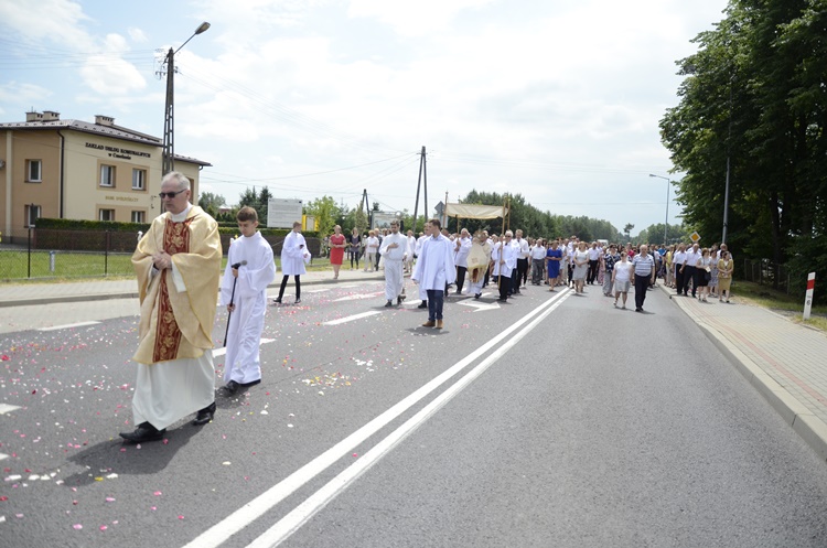
[[[434,219],[429,221],[416,239],[408,230],[402,259],[405,271],[414,271],[411,262],[421,252],[428,237],[433,237],[433,224]],[[710,248],[700,248],[698,244],[649,247],[647,244],[634,246],[632,243],[622,245],[605,240],[589,243],[577,236],[526,238],[520,229],[506,230],[502,235],[480,230],[472,235],[463,228],[450,234],[441,226],[439,235],[452,248],[455,269],[454,280],[443,292],[453,286],[455,293],[479,299],[482,289],[493,280],[500,301],[506,301],[520,294],[520,288],[529,279],[534,286],[549,286],[549,291],[568,286],[579,296],[586,294],[587,286],[597,284],[604,296],[614,298],[615,307],[625,309],[630,289],[634,287],[635,311],[643,312],[646,291],[659,278],[677,294],[691,292],[701,302],[710,302],[712,298],[730,302],[734,262],[726,244],[715,244]],[[378,257],[383,255],[382,250],[377,254]],[[423,293],[421,298],[421,308],[427,308],[427,296]],[[390,301],[388,298],[388,305]]]

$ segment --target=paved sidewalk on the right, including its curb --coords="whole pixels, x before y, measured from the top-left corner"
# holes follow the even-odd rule
[[[660,289],[827,460],[827,335],[760,307],[700,302]]]

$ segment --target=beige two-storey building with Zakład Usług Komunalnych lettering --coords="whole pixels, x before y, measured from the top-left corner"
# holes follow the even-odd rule
[[[22,237],[40,217],[147,223],[161,211],[161,139],[115,125],[61,120],[26,112],[0,123],[0,230]],[[175,155],[175,171],[192,181],[207,162]]]

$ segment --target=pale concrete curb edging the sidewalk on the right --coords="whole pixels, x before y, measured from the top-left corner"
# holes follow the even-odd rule
[[[675,299],[672,299],[673,293],[669,289],[662,286],[660,290],[668,294],[670,300],[675,301]],[[767,375],[760,365],[750,359],[738,346],[731,344],[720,331],[706,323],[689,309],[683,307],[679,301],[675,301],[675,303],[701,329],[707,339],[721,351],[721,354],[727,356],[747,382],[755,387],[770,406],[781,415],[784,421],[793,427],[793,431],[816,452],[821,461],[827,462],[827,423],[813,415],[804,404]]]

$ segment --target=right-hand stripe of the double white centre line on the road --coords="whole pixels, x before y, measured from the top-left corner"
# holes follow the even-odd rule
[[[465,376],[451,385],[433,398],[433,401],[425,406],[414,417],[405,421],[402,426],[394,430],[387,438],[374,445],[359,460],[351,464],[347,469],[327,482],[322,488],[308,497],[303,503],[293,508],[287,516],[281,518],[272,527],[267,529],[264,535],[247,545],[247,548],[271,548],[279,546],[287,540],[290,535],[296,533],[319,511],[324,508],[327,503],[342,493],[347,486],[365,473],[370,466],[379,462],[383,456],[388,454],[396,445],[401,443],[417,428],[428,421],[442,407],[451,401],[454,396],[464,390],[476,377],[482,375],[488,367],[495,364],[512,347],[516,346],[526,335],[534,331],[551,312],[559,307],[565,299],[557,299],[554,305],[548,307],[543,313],[531,321],[525,329],[519,330],[513,337],[507,339],[501,346],[483,359],[476,367],[471,369]]]

